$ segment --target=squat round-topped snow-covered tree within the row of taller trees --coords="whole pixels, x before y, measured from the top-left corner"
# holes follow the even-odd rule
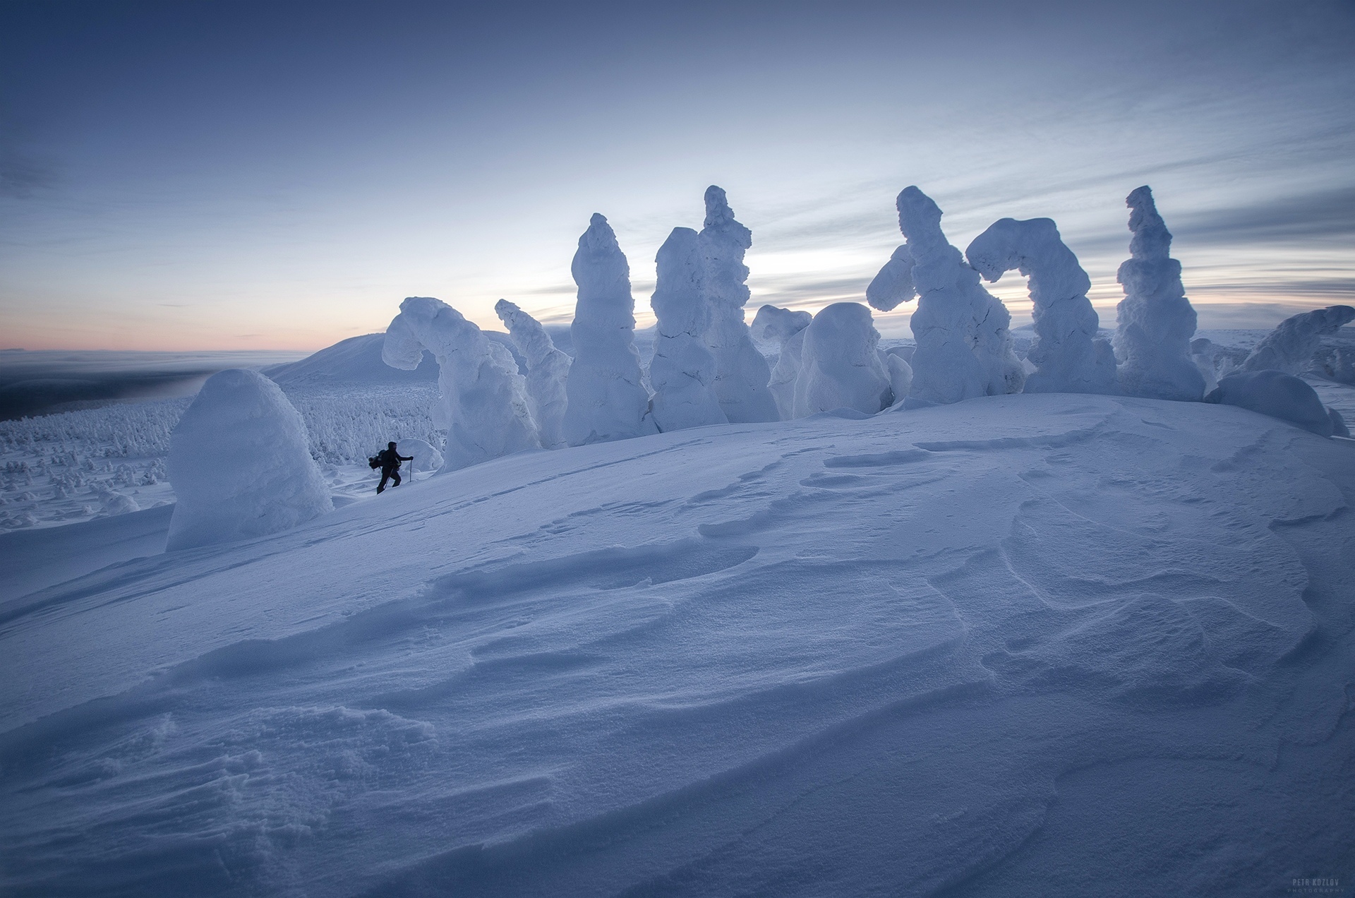
[[[875,347],[879,332],[860,302],[824,307],[804,330],[795,380],[795,418],[851,408],[874,415],[893,403],[889,373]]]

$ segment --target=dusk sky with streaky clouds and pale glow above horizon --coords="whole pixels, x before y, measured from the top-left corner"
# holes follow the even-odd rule
[[[713,183],[749,317],[862,300],[917,184],[961,248],[1054,218],[1112,327],[1146,183],[1201,327],[1270,327],[1355,302],[1351,46],[1351,0],[0,0],[0,349],[314,350],[405,296],[562,323],[593,212],[645,326]]]

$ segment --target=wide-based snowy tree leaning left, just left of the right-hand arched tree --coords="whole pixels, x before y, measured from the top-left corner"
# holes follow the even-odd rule
[[[917,351],[909,406],[1016,393],[1024,368],[1012,351],[1011,313],[980,284],[940,229],[940,209],[917,187],[898,194],[898,229],[913,256]],[[896,254],[897,255],[897,254]]]

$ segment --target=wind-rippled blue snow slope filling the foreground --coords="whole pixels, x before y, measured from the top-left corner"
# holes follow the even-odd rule
[[[1351,502],[1348,441],[1014,395],[122,562],[0,604],[0,887],[1278,894],[1355,863]]]

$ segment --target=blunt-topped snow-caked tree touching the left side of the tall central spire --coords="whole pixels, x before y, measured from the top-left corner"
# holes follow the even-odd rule
[[[649,301],[659,319],[649,364],[654,423],[663,431],[729,423],[715,396],[715,357],[706,346],[711,317],[696,232],[673,228],[654,265],[659,281]]]

